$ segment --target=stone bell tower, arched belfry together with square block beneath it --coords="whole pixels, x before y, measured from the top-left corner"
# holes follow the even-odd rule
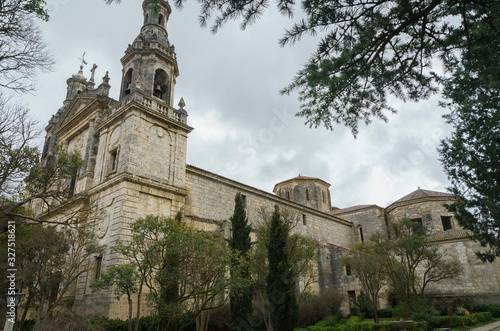
[[[179,68],[166,29],[172,9],[165,0],[144,0],[142,9],[140,33],[121,58],[119,100],[99,126],[102,170],[95,181],[127,174],[183,188],[193,128],[184,100],[173,106]]]

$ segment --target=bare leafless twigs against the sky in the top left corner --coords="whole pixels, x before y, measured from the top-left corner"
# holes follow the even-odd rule
[[[48,71],[52,55],[35,18],[48,20],[45,1],[0,2],[0,87],[25,93],[35,89],[36,73]]]

